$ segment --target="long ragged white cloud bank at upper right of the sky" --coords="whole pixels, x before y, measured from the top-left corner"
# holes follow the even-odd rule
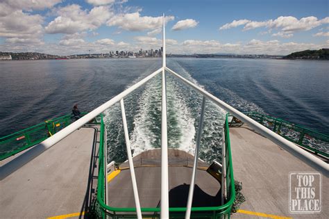
[[[280,16],[277,19],[269,19],[267,21],[257,22],[250,21],[248,19],[240,19],[238,21],[233,21],[231,23],[225,24],[221,26],[219,29],[230,29],[237,26],[244,25],[244,31],[248,31],[251,29],[256,29],[260,27],[266,27],[267,29],[279,29],[281,32],[289,32],[285,35],[287,37],[290,33],[296,31],[309,31],[310,29],[314,29],[317,26],[322,24],[328,24],[329,17],[325,17],[323,19],[318,19],[317,17],[302,17],[301,19],[297,19],[292,16]]]

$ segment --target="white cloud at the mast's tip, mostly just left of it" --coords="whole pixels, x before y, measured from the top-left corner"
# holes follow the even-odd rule
[[[174,16],[165,17],[166,23],[171,20],[174,20]],[[108,26],[119,26],[120,29],[126,31],[146,31],[161,28],[162,17],[141,17],[140,12],[126,13],[114,15],[106,24]]]

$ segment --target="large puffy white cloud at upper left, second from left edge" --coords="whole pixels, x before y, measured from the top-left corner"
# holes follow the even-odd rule
[[[76,33],[80,31],[94,30],[110,18],[110,12],[107,6],[92,8],[89,12],[82,10],[81,6],[76,4],[60,8],[57,11],[59,15],[46,26],[46,33]]]

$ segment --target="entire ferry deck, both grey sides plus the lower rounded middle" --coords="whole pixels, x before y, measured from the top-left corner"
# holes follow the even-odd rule
[[[329,218],[329,181],[323,175],[321,213],[289,213],[289,172],[317,172],[309,165],[247,126],[231,127],[230,139],[235,179],[243,184],[246,201],[232,218]],[[1,161],[1,218],[81,218],[96,191],[99,129],[74,131],[59,143],[13,172],[10,161]],[[144,207],[160,203],[160,150],[134,157],[140,202]],[[185,206],[193,156],[169,149],[169,204]],[[6,168],[3,168],[7,165]],[[171,167],[170,167],[171,166]],[[193,204],[220,202],[218,181],[198,163]],[[17,167],[16,167],[17,168]],[[126,163],[108,175],[108,204],[134,207],[131,179]],[[122,183],[124,182],[124,183]],[[199,198],[201,199],[199,199]]]

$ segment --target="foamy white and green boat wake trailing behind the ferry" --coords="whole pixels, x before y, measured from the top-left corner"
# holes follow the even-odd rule
[[[200,86],[176,61],[168,60],[168,66]],[[155,67],[153,66],[153,68]],[[153,68],[144,72],[133,83],[150,74]],[[166,83],[168,147],[194,154],[202,97],[170,74],[166,76]],[[124,99],[130,144],[134,156],[148,149],[161,147],[161,89],[161,74],[159,74]],[[229,90],[226,90],[226,93],[233,97]],[[241,99],[239,102],[246,104]],[[126,161],[126,145],[119,107],[119,104],[116,104],[105,112],[108,132],[108,162]],[[251,104],[251,108],[257,108],[257,106]],[[203,161],[221,160],[225,115],[226,111],[223,111],[222,108],[209,101],[206,102],[199,155]]]

